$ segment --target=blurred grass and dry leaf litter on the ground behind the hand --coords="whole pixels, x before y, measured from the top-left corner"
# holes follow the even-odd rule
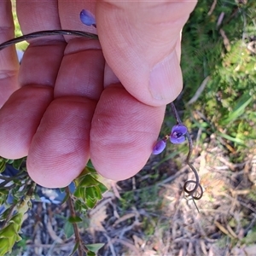
[[[254,255],[256,2],[200,0],[182,45],[184,89],[175,104],[195,144],[200,213],[183,195],[194,178],[184,165],[187,146],[169,145],[137,176],[102,180],[109,192],[79,217],[84,242],[105,244],[99,255]],[[160,136],[174,124],[167,108]],[[67,255],[75,244],[67,205],[33,206],[14,255]]]

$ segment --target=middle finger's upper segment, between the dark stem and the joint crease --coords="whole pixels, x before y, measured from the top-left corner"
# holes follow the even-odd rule
[[[55,82],[55,98],[84,96],[98,101],[103,90],[105,64],[98,40],[69,40],[64,54]]]

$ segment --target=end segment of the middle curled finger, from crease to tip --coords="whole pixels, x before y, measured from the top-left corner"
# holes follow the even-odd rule
[[[27,171],[48,188],[66,187],[89,160],[90,122],[96,102],[79,96],[51,102],[27,156]]]

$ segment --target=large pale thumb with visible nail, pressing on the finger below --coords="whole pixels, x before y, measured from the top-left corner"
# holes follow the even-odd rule
[[[137,100],[151,106],[166,105],[182,90],[180,32],[195,4],[186,0],[97,3],[103,54]]]

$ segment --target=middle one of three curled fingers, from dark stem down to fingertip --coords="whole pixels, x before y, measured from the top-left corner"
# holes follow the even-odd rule
[[[99,42],[69,41],[55,83],[55,100],[44,113],[27,157],[27,170],[38,184],[65,187],[84,169],[103,71]]]

